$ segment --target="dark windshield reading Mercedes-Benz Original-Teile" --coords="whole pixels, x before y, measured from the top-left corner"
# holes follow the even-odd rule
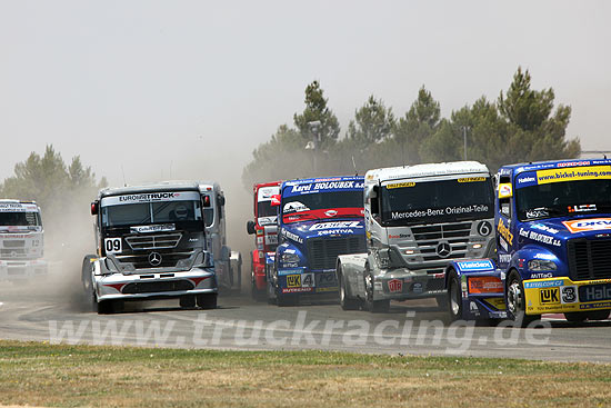
[[[392,181],[381,188],[383,226],[452,222],[494,217],[490,177]]]

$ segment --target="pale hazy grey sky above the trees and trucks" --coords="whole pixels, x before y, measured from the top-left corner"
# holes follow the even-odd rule
[[[449,115],[518,66],[611,150],[609,1],[0,0],[0,180],[52,143],[111,185],[237,181],[320,80],[342,125],[424,84]],[[221,158],[222,160],[219,160]]]

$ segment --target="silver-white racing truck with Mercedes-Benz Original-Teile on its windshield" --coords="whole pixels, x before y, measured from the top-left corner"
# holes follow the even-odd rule
[[[337,261],[340,305],[387,311],[390,300],[447,306],[445,267],[495,250],[490,172],[475,161],[370,170],[364,179],[367,253]]]

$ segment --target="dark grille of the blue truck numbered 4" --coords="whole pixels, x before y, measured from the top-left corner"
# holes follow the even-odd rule
[[[367,252],[364,237],[313,238],[308,241],[310,269],[334,269],[339,255]]]

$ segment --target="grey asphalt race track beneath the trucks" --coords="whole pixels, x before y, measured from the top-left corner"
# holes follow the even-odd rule
[[[343,311],[333,301],[281,308],[247,296],[220,297],[214,310],[186,310],[176,300],[163,300],[127,303],[121,312],[98,316],[77,290],[0,286],[2,339],[611,364],[610,320],[574,325],[552,316],[544,327],[515,329],[449,324],[444,318],[434,300],[393,303],[388,314],[370,314]]]

